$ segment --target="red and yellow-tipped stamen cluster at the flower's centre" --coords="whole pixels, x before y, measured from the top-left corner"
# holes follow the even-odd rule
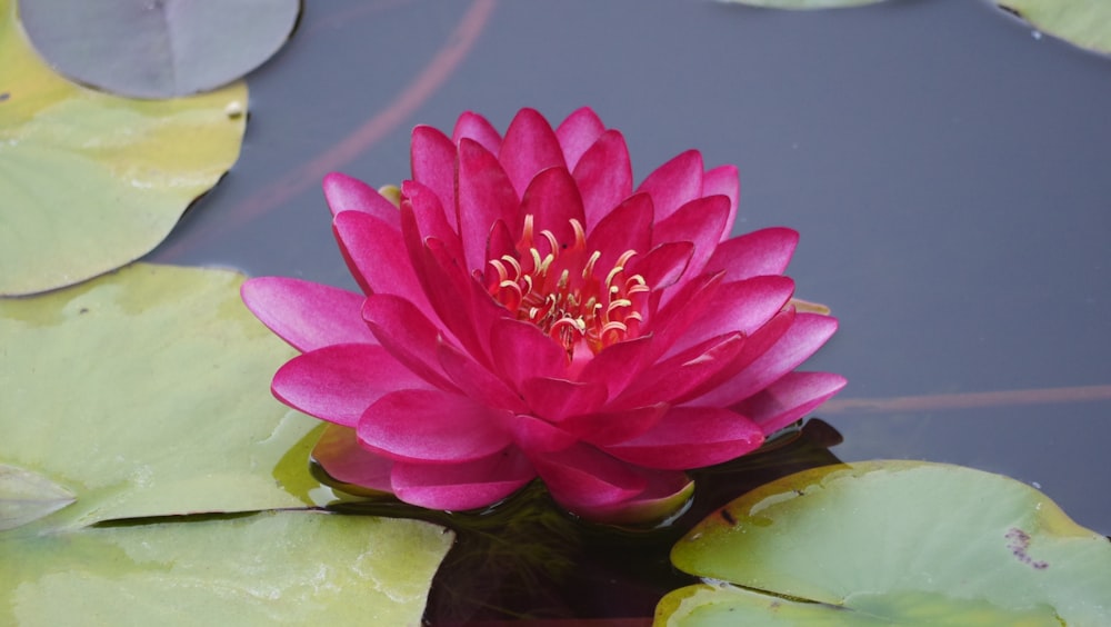
[[[532,216],[524,217],[517,255],[487,262],[490,296],[518,320],[532,322],[560,342],[571,359],[577,349],[597,355],[637,337],[651,291],[643,277],[625,271],[637,251],[624,251],[608,270],[598,268],[602,253],[587,252],[587,235],[578,220],[570,221],[574,241],[562,246],[547,229],[534,240],[532,222]]]

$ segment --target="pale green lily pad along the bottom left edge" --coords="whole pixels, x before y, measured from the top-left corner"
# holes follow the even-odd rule
[[[0,535],[0,624],[419,625],[452,539],[316,511]]]

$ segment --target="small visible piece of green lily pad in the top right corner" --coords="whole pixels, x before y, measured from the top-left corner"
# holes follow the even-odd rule
[[[1111,53],[1111,2],[1107,0],[997,0],[1042,32],[1073,46]]]

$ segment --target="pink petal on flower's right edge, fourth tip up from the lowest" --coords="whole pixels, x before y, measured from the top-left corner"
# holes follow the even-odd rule
[[[674,355],[708,338],[731,331],[752,335],[783,309],[792,293],[794,281],[787,277],[753,277],[722,283],[705,303],[701,316],[665,355]]]

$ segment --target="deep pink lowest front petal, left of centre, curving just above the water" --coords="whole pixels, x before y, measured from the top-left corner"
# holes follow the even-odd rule
[[[406,502],[461,511],[487,507],[513,494],[537,474],[513,448],[460,464],[393,465],[393,492]]]

